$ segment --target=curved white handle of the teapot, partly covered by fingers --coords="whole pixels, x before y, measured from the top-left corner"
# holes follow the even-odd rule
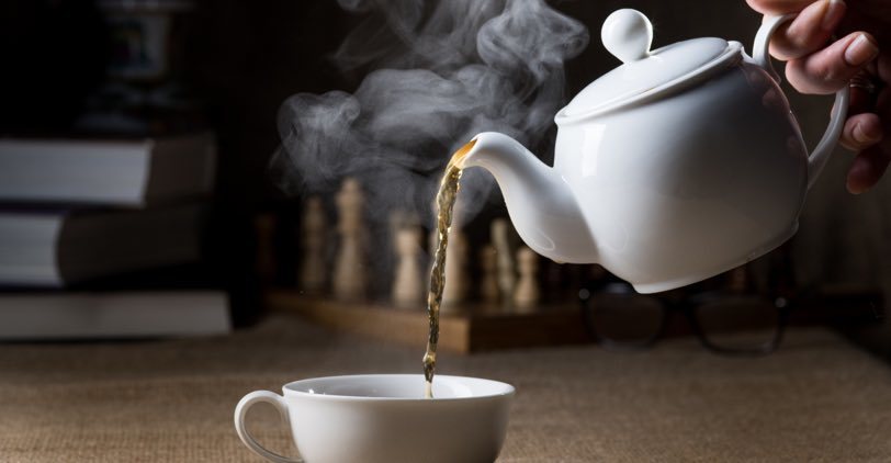
[[[777,82],[780,81],[780,77],[777,71],[774,70],[774,64],[770,61],[770,37],[774,35],[774,32],[776,32],[780,24],[793,19],[794,16],[794,14],[765,16],[762,27],[758,29],[758,34],[755,35],[755,45],[752,47],[754,55],[753,59],[755,63],[767,70],[767,72]],[[820,176],[823,167],[826,166],[826,161],[830,160],[830,155],[838,144],[838,137],[842,135],[842,128],[844,127],[845,118],[847,117],[849,101],[850,89],[848,86],[845,86],[842,90],[835,92],[835,103],[833,104],[832,113],[830,114],[830,126],[826,127],[826,132],[823,134],[823,138],[820,139],[816,148],[814,148],[813,153],[808,156],[808,189],[813,185],[814,180],[816,180],[817,176]]]

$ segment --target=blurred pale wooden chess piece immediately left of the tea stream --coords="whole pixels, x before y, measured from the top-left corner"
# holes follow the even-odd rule
[[[420,267],[421,230],[417,226],[402,226],[395,232],[394,244],[398,263],[393,279],[393,302],[401,306],[420,308],[424,301],[424,280]]]

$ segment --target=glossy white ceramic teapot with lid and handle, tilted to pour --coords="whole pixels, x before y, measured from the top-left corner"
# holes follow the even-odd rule
[[[600,263],[641,293],[738,267],[796,233],[848,106],[845,88],[808,155],[768,54],[789,19],[766,18],[748,56],[714,37],[651,52],[650,21],[616,11],[601,38],[623,65],[557,113],[554,167],[492,132],[467,144],[463,167],[492,172],[530,248]]]

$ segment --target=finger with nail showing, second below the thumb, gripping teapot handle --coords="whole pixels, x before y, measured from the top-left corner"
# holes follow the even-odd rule
[[[879,55],[876,39],[865,32],[855,32],[828,47],[786,66],[786,77],[802,93],[833,93],[848,84]]]

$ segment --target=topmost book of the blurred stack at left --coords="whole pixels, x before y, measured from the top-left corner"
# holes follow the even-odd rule
[[[0,202],[145,207],[207,195],[211,134],[138,140],[0,138]]]

